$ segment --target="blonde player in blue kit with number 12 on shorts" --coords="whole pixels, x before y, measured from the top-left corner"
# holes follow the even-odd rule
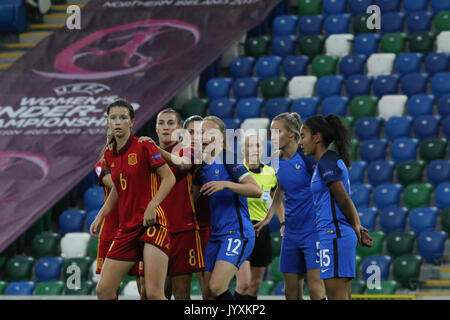
[[[234,153],[226,150],[225,125],[217,117],[202,121],[203,164],[192,188],[208,196],[211,231],[205,249],[205,279],[209,297],[233,300],[228,286],[241,264],[253,251],[255,232],[247,197],[259,198],[261,188]]]

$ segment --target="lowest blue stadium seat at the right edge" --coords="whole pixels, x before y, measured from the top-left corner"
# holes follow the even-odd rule
[[[423,232],[417,238],[417,249],[420,256],[428,263],[440,264],[444,257],[445,240],[447,240],[445,231]]]

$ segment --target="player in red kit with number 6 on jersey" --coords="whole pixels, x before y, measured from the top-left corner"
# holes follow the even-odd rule
[[[97,284],[99,299],[114,299],[123,277],[143,257],[145,291],[148,299],[165,299],[170,235],[166,214],[160,204],[175,184],[175,177],[153,143],[138,142],[131,134],[134,110],[123,99],[107,109],[114,134],[105,160],[114,186],[91,225],[98,235],[104,218],[118,203],[119,232],[108,251]],[[157,183],[157,177],[161,179]]]

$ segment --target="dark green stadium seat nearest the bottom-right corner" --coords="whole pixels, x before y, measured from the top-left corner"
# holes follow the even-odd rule
[[[401,255],[394,259],[392,274],[402,287],[416,290],[419,285],[420,270],[424,260],[412,254]]]

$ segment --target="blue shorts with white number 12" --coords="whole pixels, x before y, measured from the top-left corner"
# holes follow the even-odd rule
[[[242,238],[239,234],[209,238],[205,249],[205,271],[212,272],[218,260],[227,261],[239,269],[254,246],[255,237]]]

